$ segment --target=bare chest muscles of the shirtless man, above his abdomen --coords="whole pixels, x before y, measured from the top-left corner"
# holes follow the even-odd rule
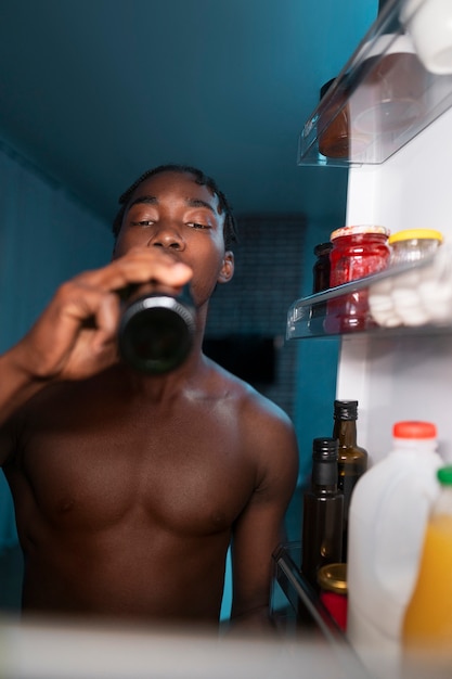
[[[238,431],[219,412],[48,417],[31,424],[20,471],[55,526],[157,522],[205,534],[229,527],[253,492]]]

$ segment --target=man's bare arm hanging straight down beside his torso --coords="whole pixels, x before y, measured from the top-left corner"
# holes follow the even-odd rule
[[[288,419],[277,409],[253,422],[247,445],[256,447],[259,477],[236,521],[232,541],[231,627],[270,629],[272,554],[283,540],[283,521],[295,490],[298,447]]]

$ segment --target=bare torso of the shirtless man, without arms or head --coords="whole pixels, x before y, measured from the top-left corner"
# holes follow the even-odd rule
[[[18,421],[4,471],[24,608],[214,620],[232,524],[256,484],[242,388],[215,383],[162,407],[112,374],[50,388]]]

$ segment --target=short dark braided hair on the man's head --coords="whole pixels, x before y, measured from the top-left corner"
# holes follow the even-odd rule
[[[141,177],[139,177],[137,181],[134,181],[132,185],[129,187],[129,189],[127,189],[127,191],[125,191],[122,195],[119,197],[118,203],[121,205],[121,207],[113,222],[113,233],[115,235],[115,240],[118,238],[118,234],[122,225],[122,218],[126,212],[127,203],[129,202],[130,196],[132,195],[133,191],[148,177],[153,177],[154,175],[159,175],[162,172],[180,172],[181,175],[184,175],[184,174],[194,175],[195,182],[197,184],[202,187],[207,187],[208,189],[210,189],[210,191],[218,196],[220,212],[224,214],[224,226],[223,226],[224,247],[229,249],[232,243],[236,243],[237,223],[236,223],[234,215],[232,214],[231,206],[228,203],[228,198],[225,197],[224,193],[219,190],[217,182],[211,177],[208,177],[202,170],[197,169],[196,167],[192,167],[191,165],[159,165],[158,167],[154,167],[143,172],[143,175],[141,175]]]

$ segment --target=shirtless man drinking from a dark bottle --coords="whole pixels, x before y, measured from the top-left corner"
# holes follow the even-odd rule
[[[164,166],[124,196],[113,261],[64,283],[0,358],[1,461],[25,556],[24,612],[268,623],[271,555],[295,488],[288,418],[202,353],[209,298],[233,274],[224,195]],[[117,358],[119,297],[190,281],[197,331],[173,372]],[[87,322],[89,320],[90,322]]]

